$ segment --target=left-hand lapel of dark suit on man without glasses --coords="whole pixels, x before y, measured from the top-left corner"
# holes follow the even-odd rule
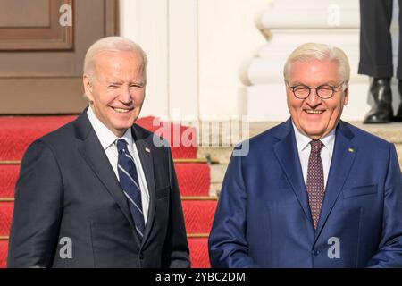
[[[105,154],[105,150],[100,144],[96,132],[88,120],[86,110],[77,119],[75,127],[78,139],[77,147],[80,155],[85,159],[92,171],[95,172],[97,178],[102,181],[105,189],[107,189],[120,206],[122,213],[130,222],[131,227],[135,229],[127,199],[124,197],[119,181],[117,181],[113,168]],[[136,240],[139,244],[137,236]]]

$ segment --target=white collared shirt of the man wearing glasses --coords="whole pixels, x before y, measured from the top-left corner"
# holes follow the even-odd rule
[[[297,152],[298,157],[300,159],[303,178],[305,180],[305,184],[307,184],[308,158],[310,157],[311,152],[310,141],[312,139],[302,134],[300,130],[297,129],[293,121],[292,124],[293,124],[293,130],[295,130]],[[327,136],[320,139],[320,141],[322,141],[323,144],[321,150],[321,160],[322,160],[322,170],[324,174],[324,188],[325,188],[327,186],[328,174],[330,173],[333,147],[335,145],[335,130],[331,130],[331,132]]]

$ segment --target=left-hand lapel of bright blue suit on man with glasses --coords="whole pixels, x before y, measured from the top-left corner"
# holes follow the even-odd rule
[[[303,172],[297,153],[296,138],[290,119],[284,123],[283,129],[279,132],[277,138],[280,139],[280,141],[274,145],[275,154],[281,164],[283,172],[285,172],[288,177],[288,181],[295,192],[300,206],[306,214],[307,220],[311,222],[313,227],[305,181],[303,180]]]

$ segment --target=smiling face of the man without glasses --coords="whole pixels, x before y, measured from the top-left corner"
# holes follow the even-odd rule
[[[137,120],[145,97],[142,57],[132,51],[96,55],[94,75],[84,74],[84,88],[96,117],[117,137]]]

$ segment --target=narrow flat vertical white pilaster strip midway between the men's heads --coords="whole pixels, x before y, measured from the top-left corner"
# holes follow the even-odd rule
[[[169,0],[168,80],[172,119],[198,118],[198,0]]]

